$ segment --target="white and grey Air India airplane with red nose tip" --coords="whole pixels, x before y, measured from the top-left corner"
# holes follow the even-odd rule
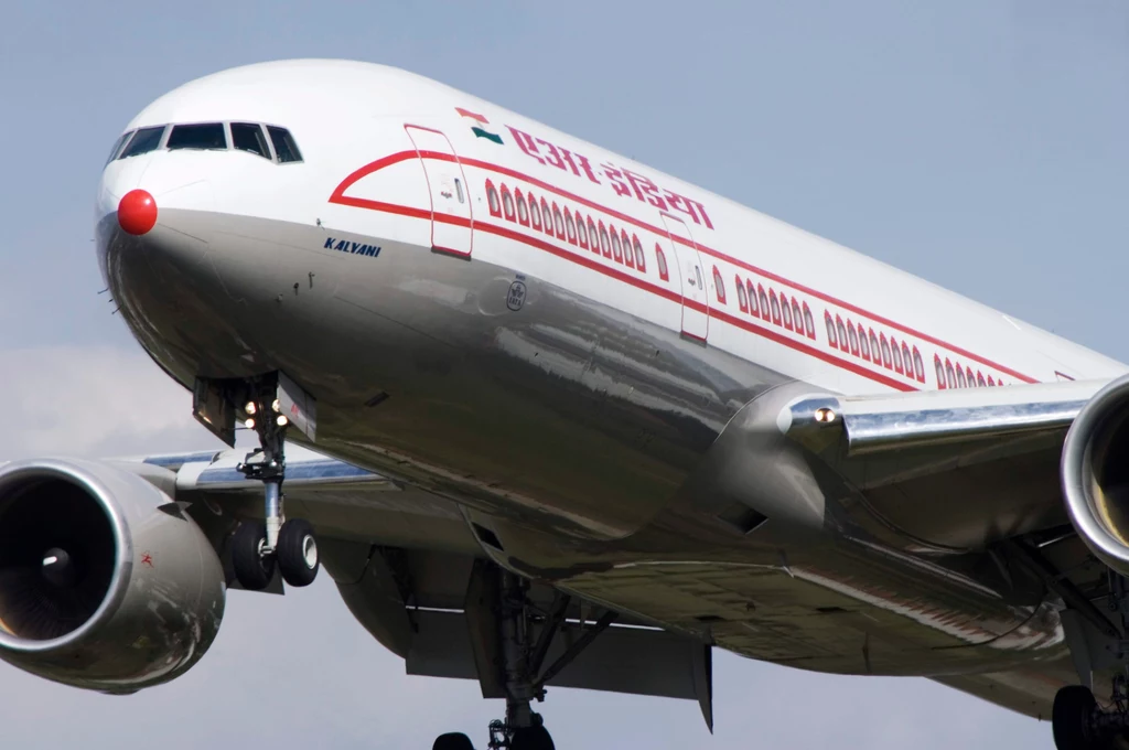
[[[362,62],[161,96],[95,221],[122,320],[230,447],[0,468],[17,668],[167,682],[228,588],[324,565],[408,673],[505,700],[493,750],[553,747],[553,687],[711,731],[715,648],[929,678],[1060,750],[1129,732],[1121,363]]]

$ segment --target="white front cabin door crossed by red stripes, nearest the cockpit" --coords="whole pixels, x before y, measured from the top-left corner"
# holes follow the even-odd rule
[[[471,195],[455,149],[438,130],[404,125],[415,146],[431,198],[431,248],[471,256]]]

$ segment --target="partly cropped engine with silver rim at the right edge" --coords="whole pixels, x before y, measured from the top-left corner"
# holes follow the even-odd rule
[[[1129,376],[1082,408],[1062,446],[1062,495],[1089,550],[1129,576]]]

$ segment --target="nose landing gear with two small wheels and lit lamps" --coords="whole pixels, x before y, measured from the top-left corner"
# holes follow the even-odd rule
[[[260,446],[237,469],[247,479],[263,482],[265,523],[245,521],[231,538],[231,566],[239,584],[262,591],[274,577],[274,568],[291,586],[308,586],[317,576],[317,540],[301,518],[286,521],[282,514],[282,480],[286,478],[286,430],[289,420],[279,411],[273,387],[252,391],[244,405],[247,427],[259,435]]]

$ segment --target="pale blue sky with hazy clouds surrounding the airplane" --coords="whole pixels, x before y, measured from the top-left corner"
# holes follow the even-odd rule
[[[1129,6],[918,5],[8,0],[0,457],[211,445],[97,295],[94,189],[149,101],[280,58],[439,79],[1129,360]],[[561,748],[1050,745],[1048,725],[919,680],[717,671],[714,739],[676,701],[557,690],[544,713]],[[26,748],[423,748],[499,710],[403,677],[324,581],[233,594],[213,652],[168,687],[112,699],[0,669],[0,689]]]

